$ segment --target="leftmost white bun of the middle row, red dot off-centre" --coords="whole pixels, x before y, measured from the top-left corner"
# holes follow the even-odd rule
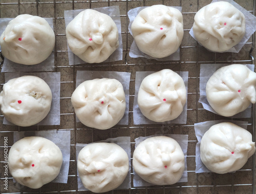
[[[9,80],[0,93],[1,111],[5,118],[18,126],[39,123],[51,109],[52,91],[36,76],[22,76]]]

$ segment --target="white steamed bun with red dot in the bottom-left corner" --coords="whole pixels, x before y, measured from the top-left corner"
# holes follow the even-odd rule
[[[8,155],[13,178],[30,188],[40,188],[54,180],[60,171],[62,153],[44,137],[25,137],[16,141]]]

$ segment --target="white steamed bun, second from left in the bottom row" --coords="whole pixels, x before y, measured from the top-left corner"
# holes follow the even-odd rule
[[[93,192],[107,192],[126,178],[129,158],[115,143],[92,143],[79,152],[77,169],[84,187]]]

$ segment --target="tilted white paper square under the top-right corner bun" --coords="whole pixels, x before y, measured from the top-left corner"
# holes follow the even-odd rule
[[[238,53],[241,50],[241,48],[244,46],[244,44],[247,42],[247,40],[251,37],[251,35],[256,31],[256,17],[232,0],[214,0],[211,3],[215,3],[215,2],[228,2],[228,3],[232,4],[234,7],[236,7],[239,11],[241,11],[245,16],[245,19],[246,19],[245,34],[244,34],[244,37],[242,38],[242,40],[237,45],[233,46],[232,48],[230,48],[227,51],[217,52],[217,53],[225,53],[225,52]],[[197,40],[194,35],[193,28],[190,29],[189,34],[195,40]],[[200,42],[198,42],[198,43],[200,44]],[[210,51],[210,50],[208,50],[208,51]],[[210,52],[214,52],[214,51],[210,51]]]

